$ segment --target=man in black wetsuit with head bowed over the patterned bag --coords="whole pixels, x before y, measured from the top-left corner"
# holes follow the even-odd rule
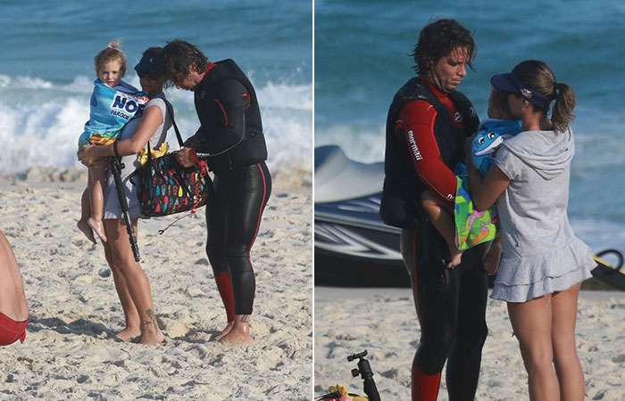
[[[228,316],[217,340],[251,344],[255,280],[249,253],[271,193],[254,86],[234,61],[210,62],[179,39],[162,49],[159,64],[175,86],[194,92],[201,124],[179,151],[179,163],[190,167],[204,161],[214,174],[206,205],[206,253]]]

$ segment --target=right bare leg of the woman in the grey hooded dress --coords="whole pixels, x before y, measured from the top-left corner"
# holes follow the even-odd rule
[[[567,401],[584,399],[584,372],[579,364],[575,345],[575,321],[581,283],[552,297],[552,342],[554,344],[555,374],[560,384],[560,397]]]

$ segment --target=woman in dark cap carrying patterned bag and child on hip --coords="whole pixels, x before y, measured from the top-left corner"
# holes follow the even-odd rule
[[[141,88],[150,98],[143,113],[124,126],[116,144],[85,146],[79,152],[79,160],[89,166],[96,160],[115,156],[114,146],[117,147],[117,154],[122,156],[121,163],[125,165],[121,170],[121,180],[126,188],[129,214],[135,233],[141,208],[137,189],[130,183],[129,176],[140,165],[140,154],[146,144],[149,142],[153,150],[159,149],[171,127],[171,105],[162,93],[164,79],[154,75],[155,62],[161,51],[161,47],[148,48],[135,66]],[[117,338],[131,340],[138,337],[140,343],[160,343],[164,336],[156,322],[150,283],[130,248],[117,190],[110,174],[104,197],[104,229],[108,239],[104,242],[104,255],[111,266],[115,289],[126,317],[126,327],[117,333]]]

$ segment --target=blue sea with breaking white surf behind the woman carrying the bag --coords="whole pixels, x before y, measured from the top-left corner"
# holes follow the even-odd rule
[[[150,46],[182,38],[210,61],[232,58],[252,80],[273,173],[312,180],[312,2],[186,0],[102,3],[0,1],[0,174],[33,166],[82,168],[77,138],[88,119],[93,59],[121,38],[124,78]],[[199,126],[193,94],[166,92],[183,137]],[[173,129],[169,142],[177,148]]]

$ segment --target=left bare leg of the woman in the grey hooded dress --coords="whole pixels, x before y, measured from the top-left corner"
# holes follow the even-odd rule
[[[508,315],[528,372],[530,401],[559,401],[560,386],[553,365],[551,294],[522,303],[508,302]]]

